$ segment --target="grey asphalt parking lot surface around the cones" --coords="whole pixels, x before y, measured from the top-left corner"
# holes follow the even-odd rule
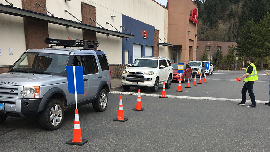
[[[182,83],[183,92],[175,92],[178,82],[173,82],[167,99],[158,98],[162,85],[156,93],[141,88],[144,111],[132,110],[139,88],[112,91],[102,113],[91,104],[79,107],[82,139],[88,139],[83,146],[66,145],[72,139],[74,110],[65,111],[64,123],[55,131],[41,129],[37,118],[8,117],[0,125],[0,151],[268,151],[270,107],[263,102],[269,99],[269,76],[259,75],[254,93],[260,102],[248,108],[237,105],[243,82],[234,81],[244,71],[219,73],[225,74],[215,71],[208,83],[192,88]],[[120,95],[126,122],[113,121]]]

